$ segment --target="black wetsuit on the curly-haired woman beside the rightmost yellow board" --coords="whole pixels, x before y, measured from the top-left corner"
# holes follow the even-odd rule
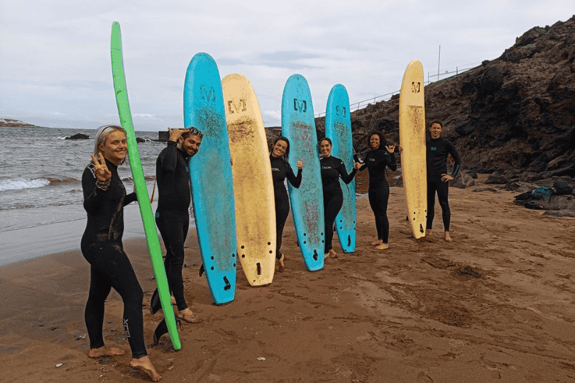
[[[369,172],[369,204],[373,215],[376,216],[376,230],[378,239],[383,243],[389,241],[389,220],[388,220],[388,201],[389,201],[389,184],[385,176],[385,167],[390,170],[398,170],[395,163],[395,155],[385,149],[369,150],[366,158],[363,160],[360,171],[368,170]]]

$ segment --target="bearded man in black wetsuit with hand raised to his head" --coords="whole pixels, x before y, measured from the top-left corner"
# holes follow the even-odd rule
[[[177,305],[176,316],[188,323],[202,321],[187,306],[182,267],[184,243],[190,226],[188,209],[192,201],[188,160],[198,152],[203,136],[196,128],[170,129],[168,146],[160,152],[155,165],[159,194],[155,223],[166,249],[165,272]],[[157,290],[152,296],[151,306],[153,313],[160,309]]]

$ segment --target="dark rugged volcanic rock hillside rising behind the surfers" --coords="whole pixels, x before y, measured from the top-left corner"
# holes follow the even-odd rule
[[[351,113],[356,150],[379,129],[398,143],[399,96]],[[425,87],[462,168],[508,179],[575,177],[575,16],[535,27],[496,60]],[[324,117],[316,119],[324,131]]]

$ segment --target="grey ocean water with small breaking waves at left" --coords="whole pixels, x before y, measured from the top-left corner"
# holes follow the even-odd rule
[[[76,133],[90,138],[64,139]],[[91,162],[95,133],[88,129],[0,128],[0,233],[85,220],[82,172]],[[138,144],[138,152],[151,194],[155,160],[165,143],[149,141],[157,139],[158,132],[138,131],[136,137],[148,140]],[[131,191],[129,158],[119,167],[119,175]]]

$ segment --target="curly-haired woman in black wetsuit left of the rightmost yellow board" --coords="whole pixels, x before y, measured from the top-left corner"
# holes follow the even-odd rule
[[[383,250],[389,248],[389,221],[388,221],[388,201],[389,185],[385,177],[385,167],[390,170],[397,170],[398,165],[395,163],[394,145],[387,145],[385,137],[379,131],[374,131],[368,136],[368,151],[363,165],[359,170],[368,170],[369,172],[369,205],[376,216],[376,230],[378,239],[372,243],[377,245],[376,249]]]

